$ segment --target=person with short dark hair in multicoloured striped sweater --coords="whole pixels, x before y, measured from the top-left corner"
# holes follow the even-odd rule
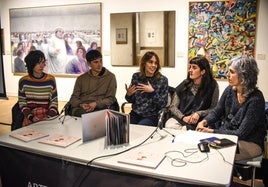
[[[58,115],[58,94],[54,76],[43,72],[42,51],[30,51],[25,57],[28,75],[19,80],[18,102],[24,115],[23,126]]]

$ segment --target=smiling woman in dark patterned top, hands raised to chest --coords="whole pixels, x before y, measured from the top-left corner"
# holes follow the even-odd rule
[[[140,72],[132,75],[126,85],[125,98],[132,103],[130,123],[157,126],[159,111],[168,102],[168,79],[160,73],[160,61],[153,51],[146,52],[140,63]]]

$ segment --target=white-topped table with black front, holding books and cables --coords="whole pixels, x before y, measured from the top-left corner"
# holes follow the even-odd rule
[[[58,118],[42,121],[25,128],[48,134],[63,133],[82,136],[81,118],[66,116],[64,124]],[[16,131],[19,131],[18,129]],[[174,167],[165,158],[156,169],[118,163],[123,154],[95,160],[94,158],[119,153],[143,142],[155,127],[130,125],[128,146],[107,149],[105,138],[90,142],[78,141],[66,148],[41,144],[38,140],[23,142],[9,134],[0,136],[0,172],[3,186],[229,186],[236,146],[208,153],[208,160]],[[236,136],[208,134],[196,131],[158,130],[148,141],[136,149],[150,150],[158,154],[168,151],[183,152],[197,149],[198,140],[216,136],[237,142]],[[185,153],[187,155],[187,153]],[[195,159],[206,155],[198,151]],[[173,156],[173,155],[172,155]],[[226,161],[224,161],[224,159]],[[6,185],[5,185],[6,184]]]

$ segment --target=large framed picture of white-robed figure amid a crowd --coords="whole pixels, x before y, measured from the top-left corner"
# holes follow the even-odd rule
[[[101,50],[101,3],[10,9],[12,71],[27,72],[31,50],[46,56],[45,72],[77,76],[88,71],[85,54]]]

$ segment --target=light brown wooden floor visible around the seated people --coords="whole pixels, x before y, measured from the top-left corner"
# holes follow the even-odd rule
[[[8,99],[0,99],[0,135],[10,132],[11,124],[11,109],[17,102],[17,97],[8,97]],[[66,101],[59,101],[59,111],[62,110]],[[129,112],[129,108],[126,108],[126,112]],[[238,178],[234,178],[234,184],[231,187],[247,187],[250,186],[250,181],[241,181]],[[1,186],[1,185],[0,185]],[[264,187],[262,181],[256,180],[255,187]]]

